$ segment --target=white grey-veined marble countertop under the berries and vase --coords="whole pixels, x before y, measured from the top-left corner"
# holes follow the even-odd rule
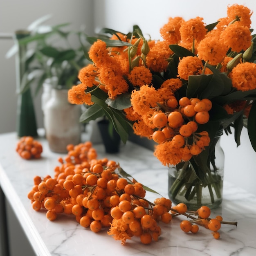
[[[174,218],[171,225],[162,225],[158,242],[142,245],[136,239],[126,245],[114,240],[106,231],[94,234],[81,227],[71,216],[59,216],[54,222],[45,217],[45,211],[31,208],[27,193],[36,175],[53,175],[60,154],[50,152],[47,141],[43,144],[42,158],[26,161],[16,153],[16,133],[0,135],[0,185],[13,207],[22,228],[37,255],[83,256],[83,255],[256,255],[256,196],[224,182],[222,207],[213,215],[222,215],[226,221],[238,221],[238,226],[222,225],[221,238],[215,240],[211,231],[200,228],[198,234],[185,234],[180,230],[181,219]],[[122,168],[144,185],[167,197],[167,168],[153,156],[153,152],[127,143],[116,155],[106,155],[102,145],[94,145],[100,157],[118,161]],[[157,195],[146,193],[154,200]]]

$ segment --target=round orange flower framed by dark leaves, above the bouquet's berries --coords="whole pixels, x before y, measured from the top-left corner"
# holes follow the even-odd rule
[[[178,64],[178,76],[180,79],[188,80],[191,75],[202,74],[203,63],[197,56],[187,56]]]

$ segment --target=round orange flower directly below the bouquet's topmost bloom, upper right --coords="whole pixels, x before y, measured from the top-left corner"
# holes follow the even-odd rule
[[[223,43],[234,52],[246,50],[250,47],[252,42],[250,29],[240,25],[240,22],[229,25],[222,31],[220,38],[223,40]]]

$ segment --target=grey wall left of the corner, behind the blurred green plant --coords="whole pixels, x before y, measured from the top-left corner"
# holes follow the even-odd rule
[[[58,25],[71,23],[70,28],[92,34],[93,0],[2,0],[0,1],[0,33],[13,33],[26,29],[34,20],[51,14],[45,24]],[[77,42],[78,43],[78,42]],[[15,58],[5,58],[13,40],[0,39],[0,133],[16,130],[16,77]],[[34,99],[38,127],[43,127],[43,114],[40,109],[40,94]]]

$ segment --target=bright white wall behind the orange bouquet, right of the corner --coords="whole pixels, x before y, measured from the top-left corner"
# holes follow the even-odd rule
[[[150,34],[151,38],[160,39],[159,29],[168,21],[168,17],[181,16],[189,20],[200,16],[206,24],[211,24],[218,18],[226,17],[227,6],[235,3],[254,11],[252,28],[256,29],[255,0],[96,0],[96,3],[103,8],[95,20],[97,30],[109,27],[128,33],[136,24],[142,29],[144,36]],[[238,148],[234,135],[223,135],[221,144],[225,152],[225,180],[256,194],[256,153],[250,145],[247,129],[243,128]]]

